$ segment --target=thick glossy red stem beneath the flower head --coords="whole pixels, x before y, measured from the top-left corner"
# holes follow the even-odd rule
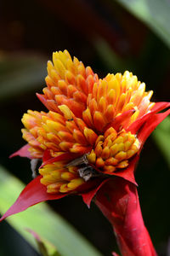
[[[99,189],[96,205],[111,222],[122,256],[156,256],[144,226],[136,186],[121,177]]]

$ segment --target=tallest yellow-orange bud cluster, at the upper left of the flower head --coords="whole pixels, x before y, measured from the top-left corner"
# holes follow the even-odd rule
[[[46,107],[59,113],[58,106],[66,105],[79,118],[87,108],[88,94],[92,93],[94,83],[99,81],[91,67],[85,68],[76,57],[72,61],[67,50],[53,54],[53,62],[48,61],[45,80],[48,87],[43,89],[43,96],[37,96]]]

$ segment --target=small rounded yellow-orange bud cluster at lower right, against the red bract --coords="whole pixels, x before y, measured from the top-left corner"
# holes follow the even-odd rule
[[[117,132],[111,127],[97,138],[94,149],[87,158],[89,163],[102,169],[102,172],[111,174],[116,169],[127,167],[128,159],[138,151],[138,138],[130,131],[122,129]]]

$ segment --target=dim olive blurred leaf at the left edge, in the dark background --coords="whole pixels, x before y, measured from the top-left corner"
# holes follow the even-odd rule
[[[4,55],[0,58],[0,100],[18,96],[44,84],[46,61],[40,55]]]

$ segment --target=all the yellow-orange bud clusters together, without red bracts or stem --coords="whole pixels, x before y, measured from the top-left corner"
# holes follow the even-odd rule
[[[86,157],[82,162],[62,160],[39,169],[48,193],[66,193],[88,180],[88,166],[100,175],[128,166],[140,142],[127,128],[150,112],[153,92],[145,92],[145,84],[127,71],[99,79],[77,58],[72,61],[66,50],[55,52],[53,62],[48,61],[47,87],[37,95],[49,111],[25,113],[22,133],[32,158],[42,159],[47,149],[52,157],[68,152],[75,158]],[[126,118],[120,119],[123,114]]]

